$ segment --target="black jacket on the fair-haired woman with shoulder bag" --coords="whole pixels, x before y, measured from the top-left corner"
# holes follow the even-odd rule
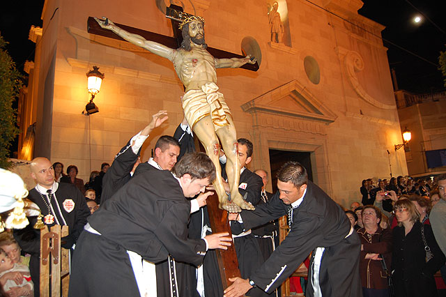
[[[433,253],[433,258],[426,263],[421,227],[420,222],[415,222],[406,236],[403,226],[393,229],[392,279],[397,297],[437,296],[433,275],[445,264],[445,255],[431,226],[424,224],[424,236]]]

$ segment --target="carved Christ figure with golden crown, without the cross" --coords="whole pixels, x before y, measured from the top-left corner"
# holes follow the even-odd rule
[[[223,94],[218,92],[215,69],[238,68],[245,63],[254,64],[256,60],[252,61],[250,56],[243,59],[216,59],[210,55],[206,50],[202,17],[187,17],[181,22],[183,43],[176,50],[129,33],[107,18],[100,20],[95,17],[95,20],[102,28],[109,29],[130,43],[174,63],[176,74],[186,88],[182,102],[187,123],[200,139],[217,169],[217,178],[213,185],[219,198],[220,208],[231,212],[239,212],[240,208],[253,210],[254,206],[243,200],[238,192],[240,164],[236,128],[229,107],[224,102]],[[221,178],[219,139],[227,158],[226,173],[233,203],[228,201]]]

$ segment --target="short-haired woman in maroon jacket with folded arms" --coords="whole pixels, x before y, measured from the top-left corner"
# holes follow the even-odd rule
[[[364,228],[357,230],[361,240],[360,275],[364,297],[388,297],[387,272],[392,257],[392,232],[379,226],[382,218],[376,206],[367,205],[362,209]],[[390,269],[388,269],[390,271]]]

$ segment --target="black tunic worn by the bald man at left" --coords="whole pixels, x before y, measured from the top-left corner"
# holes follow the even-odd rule
[[[47,195],[43,196],[47,197]],[[39,206],[42,215],[45,216],[48,214],[47,205],[36,188],[29,191],[27,198]],[[75,207],[70,212],[63,208],[63,202],[66,201],[66,199],[72,199],[72,201],[75,203]],[[61,212],[59,212],[59,208],[57,207],[56,203],[59,205]],[[71,248],[72,245],[77,242],[77,238],[79,238],[79,235],[86,224],[86,218],[90,215],[89,207],[86,205],[84,195],[82,195],[75,185],[70,183],[59,183],[58,188],[56,192],[54,192],[52,198],[52,206],[54,211],[57,212],[57,218],[61,218],[62,215],[63,219],[66,220],[66,224],[68,225],[69,235],[66,236],[66,238],[63,238],[63,241],[66,241],[66,244],[63,244],[62,247]],[[59,220],[59,224],[63,225],[63,220]],[[17,243],[19,243],[20,248],[22,248],[24,252],[31,254],[31,259],[29,260],[29,271],[31,273],[31,279],[35,284],[34,293],[36,296],[39,296],[40,230],[33,228],[35,222],[36,218],[30,218],[30,224],[24,229],[14,229],[14,237]],[[53,224],[46,225],[48,228],[50,228],[54,226],[54,224],[56,224],[56,220],[54,220]]]

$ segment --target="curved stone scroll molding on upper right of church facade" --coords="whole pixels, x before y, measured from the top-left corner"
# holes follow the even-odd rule
[[[348,82],[351,83],[351,86],[362,100],[368,102],[374,107],[378,107],[380,109],[396,109],[396,105],[387,105],[382,102],[379,102],[375,98],[371,97],[367,91],[364,90],[364,87],[361,86],[359,79],[357,78],[356,73],[364,70],[364,60],[362,56],[358,52],[354,52],[351,50],[346,50],[342,47],[336,48],[337,54],[342,58],[344,58],[344,72],[347,75]]]

